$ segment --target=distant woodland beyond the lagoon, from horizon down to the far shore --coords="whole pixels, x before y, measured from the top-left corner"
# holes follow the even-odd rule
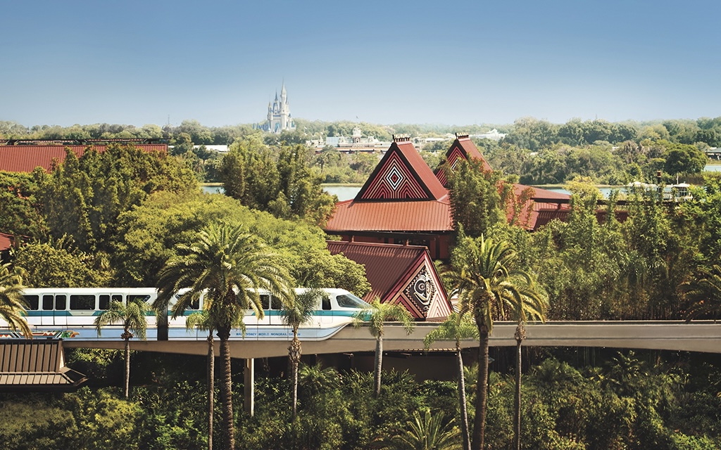
[[[490,127],[505,132],[499,142],[477,140],[492,168],[516,174],[525,184],[562,184],[575,176],[588,176],[598,184],[627,184],[631,181],[655,182],[663,172],[663,181],[688,178],[702,171],[708,158],[704,150],[721,142],[721,117],[698,120],[665,120],[659,122],[619,122],[605,120],[570,120],[554,124],[545,120],[523,118],[512,125],[375,125],[366,122],[322,122],[296,120],[296,130],[280,135],[265,134],[252,125],[205,127],[195,120],[178,126],[145,125],[74,125],[72,127],[33,126],[0,122],[0,138],[5,139],[110,139],[156,138],[171,145],[171,153],[183,156],[200,181],[221,181],[220,156],[205,145],[231,145],[252,139],[269,146],[303,144],[306,140],[327,136],[350,136],[354,127],[364,135],[390,140],[393,134],[412,137],[447,138],[454,132],[480,134]],[[443,153],[450,140],[425,145],[427,152]],[[438,157],[428,153],[429,161]],[[345,155],[334,148],[324,148],[311,165],[322,171],[326,183],[362,183],[377,158],[372,155]]]

